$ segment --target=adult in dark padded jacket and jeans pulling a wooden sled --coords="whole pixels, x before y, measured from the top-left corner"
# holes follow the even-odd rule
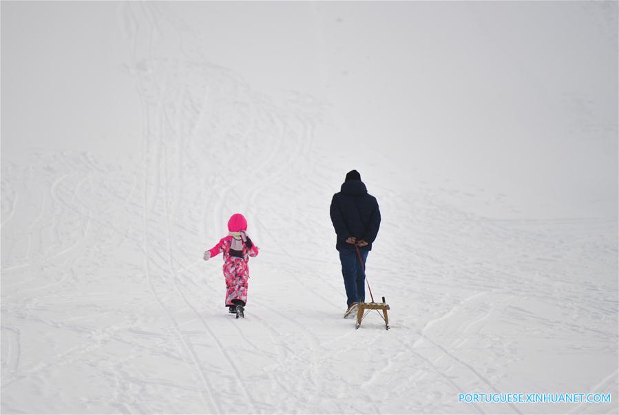
[[[358,171],[349,171],[342,184],[342,191],[333,195],[331,222],[337,234],[335,248],[339,251],[339,261],[342,263],[344,288],[348,297],[345,317],[348,317],[354,315],[357,303],[363,302],[366,297],[366,275],[359,264],[355,246],[359,247],[365,267],[381,222],[378,202],[368,193]]]

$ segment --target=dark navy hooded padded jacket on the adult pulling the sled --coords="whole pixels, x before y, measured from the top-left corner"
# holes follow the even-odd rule
[[[348,180],[342,184],[342,191],[335,193],[331,200],[331,222],[337,234],[337,251],[355,249],[347,244],[348,237],[365,240],[367,246],[361,249],[372,251],[372,242],[376,239],[381,223],[378,202],[368,193],[361,180]]]

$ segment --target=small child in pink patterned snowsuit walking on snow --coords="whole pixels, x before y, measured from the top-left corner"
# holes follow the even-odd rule
[[[249,257],[258,255],[255,246],[247,236],[247,220],[240,213],[235,213],[228,221],[228,235],[216,246],[204,252],[204,261],[224,254],[224,277],[226,279],[226,306],[231,313],[244,317],[243,310],[247,302],[247,281],[249,279]]]

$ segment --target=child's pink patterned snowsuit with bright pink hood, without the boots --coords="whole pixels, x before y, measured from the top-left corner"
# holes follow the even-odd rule
[[[228,222],[228,229],[231,233],[244,232],[246,228],[247,222],[240,213],[233,215]],[[233,306],[232,301],[235,299],[243,301],[243,304],[247,303],[249,257],[258,255],[258,247],[250,243],[250,248],[245,242],[242,243],[242,253],[238,251],[234,253],[234,250],[231,250],[234,239],[235,236],[233,235],[223,237],[216,246],[213,246],[213,248],[208,251],[211,258],[219,253],[223,253],[224,255],[223,271],[226,279],[226,306]],[[249,240],[249,237],[247,239]]]

